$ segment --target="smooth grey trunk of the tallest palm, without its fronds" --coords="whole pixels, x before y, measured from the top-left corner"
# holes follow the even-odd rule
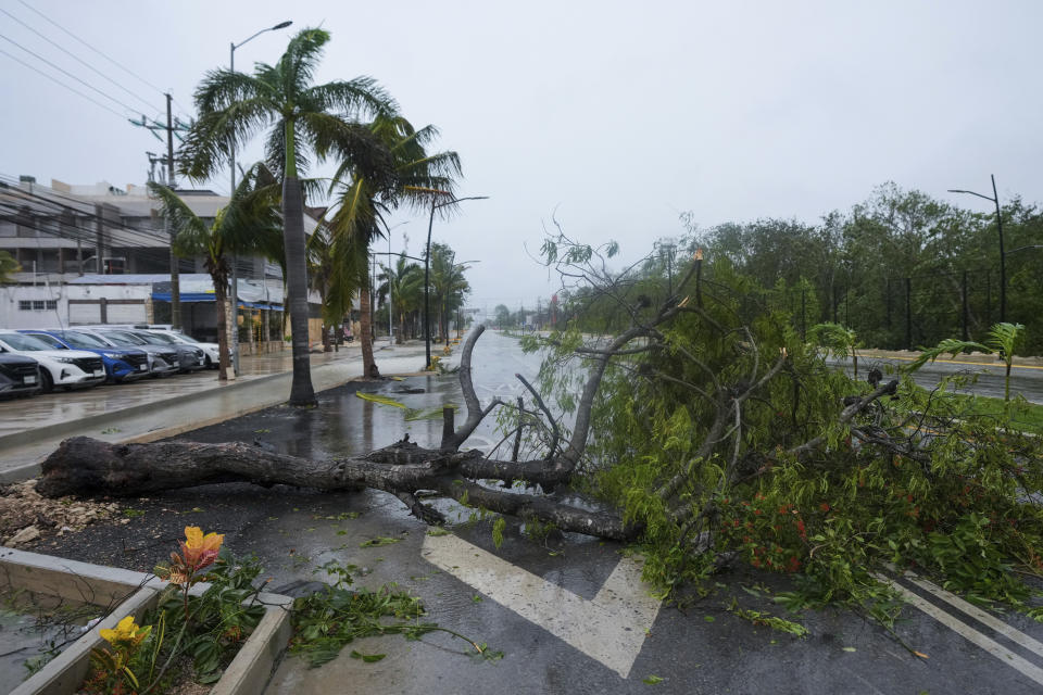
[[[292,129],[287,126],[287,163],[292,162]],[[292,173],[291,173],[292,172]],[[307,266],[304,253],[304,201],[296,167],[287,167],[282,179],[282,247],[286,250],[287,305],[290,308],[290,333],[293,338],[293,382],[290,405],[314,406],[312,366],[307,338]]]

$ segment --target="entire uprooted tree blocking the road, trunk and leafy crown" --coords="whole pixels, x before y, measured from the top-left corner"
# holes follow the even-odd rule
[[[640,541],[648,579],[668,587],[741,559],[800,577],[801,601],[864,601],[877,595],[874,567],[895,561],[1028,606],[1009,569],[1043,576],[1043,450],[1011,427],[1017,403],[997,421],[947,383],[925,391],[880,368],[853,381],[726,264],[707,279],[696,257],[664,287],[650,262],[610,273],[613,249],[602,251],[561,232],[544,247],[567,287],[562,329],[525,340],[545,351],[535,383],[519,376],[528,401],[480,402],[472,357],[483,329],[469,334],[458,375],[466,417],[457,427],[443,412],[437,447],[403,440],[307,460],[246,443],[72,439],[43,464],[37,489],[368,486],[440,523],[422,502],[433,493],[542,528]],[[463,451],[494,413],[512,455]],[[568,504],[561,490],[601,506]]]

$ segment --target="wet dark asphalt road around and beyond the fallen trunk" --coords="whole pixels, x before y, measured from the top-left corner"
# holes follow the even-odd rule
[[[478,343],[475,365],[476,386],[485,401],[492,394],[519,394],[514,372],[520,371],[531,380],[538,358],[520,355],[513,339],[487,334]],[[425,393],[397,393],[402,388],[423,388]],[[368,451],[391,443],[404,432],[420,443],[437,442],[440,420],[406,422],[404,410],[359,399],[356,389],[395,397],[417,409],[447,401],[462,402],[454,377],[349,384],[321,394],[319,407],[313,410],[269,408],[178,439],[256,440],[281,452],[316,458]],[[481,445],[493,439],[491,430],[483,427],[473,443]],[[385,653],[385,660],[361,664],[345,654],[321,669],[307,670],[290,659],[276,673],[269,693],[939,695],[1043,691],[1043,681],[1033,681],[1009,666],[1013,654],[1043,669],[1043,645],[1036,647],[1031,640],[1016,636],[1019,645],[994,629],[962,617],[978,633],[1009,650],[1000,659],[950,627],[906,608],[895,633],[905,645],[928,657],[920,658],[882,628],[846,610],[787,615],[772,599],[775,593],[788,589],[787,579],[752,568],[721,574],[714,593],[684,611],[663,607],[632,669],[623,678],[427,563],[420,556],[427,529],[409,517],[391,495],[368,490],[317,494],[237,484],[173,491],[133,501],[130,506],[144,514],[115,528],[88,528],[68,538],[64,547],[34,549],[149,569],[169,551],[183,526],[198,523],[224,532],[226,544],[236,552],[262,557],[265,576],[276,590],[318,578],[315,568],[327,560],[351,563],[362,568],[359,583],[375,586],[398,582],[425,601],[432,620],[505,653],[500,661],[483,662],[463,656],[462,643],[444,635],[428,635],[419,643],[379,637],[353,644],[345,653],[352,648],[365,654]],[[455,535],[583,598],[594,597],[619,559],[618,544],[573,534],[537,543],[514,522],[507,523],[504,543],[497,549],[490,522],[468,522],[467,513],[453,505],[440,508],[454,515],[456,522],[450,528]],[[378,535],[400,542],[360,547]],[[957,612],[927,592],[917,593],[947,612]],[[733,598],[744,608],[797,620],[810,634],[800,639],[753,626],[727,610]],[[1043,642],[1043,626],[1019,616],[998,619]],[[644,680],[651,677],[663,680],[646,684]]]

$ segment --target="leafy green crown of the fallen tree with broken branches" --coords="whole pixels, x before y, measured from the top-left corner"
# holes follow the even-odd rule
[[[596,254],[562,240],[544,251],[569,267]],[[574,291],[563,329],[527,343],[550,350],[541,390],[568,410],[592,328],[644,336],[605,371],[582,470],[642,529],[648,579],[678,597],[749,563],[793,578],[791,606],[842,601],[888,622],[875,572],[893,563],[1043,615],[1023,581],[1043,578],[1043,443],[1021,431],[1034,408],[953,394],[964,377],[928,391],[908,367],[852,380],[729,258],[681,275],[665,304],[649,267]]]

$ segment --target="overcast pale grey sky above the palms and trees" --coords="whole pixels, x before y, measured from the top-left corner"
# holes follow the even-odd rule
[[[764,216],[814,222],[887,180],[948,198],[947,188],[985,192],[994,173],[1001,197],[1041,199],[1035,0],[26,1],[173,90],[186,115],[204,71],[227,65],[230,41],[293,21],[237,50],[237,67],[248,70],[277,60],[292,31],[327,28],[317,79],[378,79],[407,118],[437,125],[441,148],[460,153],[460,194],[490,197],[436,222],[433,235],[458,258],[481,261],[469,274],[473,304],[490,309],[549,296],[546,273],[526,248],[539,249],[555,207],[570,235],[616,239],[631,258],[680,233],[683,211],[701,227]],[[0,9],[134,94],[8,14],[0,35],[126,105],[150,108],[146,115],[163,113],[156,89],[20,0],[0,0]],[[0,50],[116,112],[0,54],[0,173],[45,184],[143,182],[144,152],[162,146],[117,115],[129,115],[124,106],[8,40]],[[226,179],[214,184],[227,191]],[[413,217],[393,230],[393,250],[404,231],[417,251],[426,230],[426,218]]]

